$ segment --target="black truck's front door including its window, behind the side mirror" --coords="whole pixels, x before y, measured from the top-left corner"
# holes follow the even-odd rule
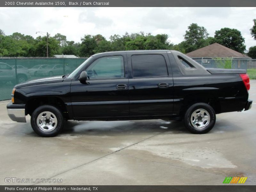
[[[87,84],[72,80],[71,101],[76,119],[129,116],[125,55],[100,57],[85,69]]]

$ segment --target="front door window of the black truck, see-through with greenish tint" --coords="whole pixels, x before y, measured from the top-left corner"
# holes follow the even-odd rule
[[[124,59],[122,56],[101,57],[86,69],[90,79],[124,78]]]

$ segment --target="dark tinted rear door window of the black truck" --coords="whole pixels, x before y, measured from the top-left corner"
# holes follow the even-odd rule
[[[158,54],[132,55],[132,73],[135,78],[168,76],[164,56]]]

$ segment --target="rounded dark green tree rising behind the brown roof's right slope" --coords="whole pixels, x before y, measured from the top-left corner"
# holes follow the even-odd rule
[[[237,52],[244,53],[244,38],[241,35],[241,32],[237,29],[221,28],[220,30],[215,31],[214,38],[217,43]]]

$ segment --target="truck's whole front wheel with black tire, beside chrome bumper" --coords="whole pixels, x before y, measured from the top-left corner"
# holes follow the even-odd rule
[[[54,137],[63,129],[65,120],[58,108],[42,105],[32,113],[30,124],[36,134],[42,137]]]

